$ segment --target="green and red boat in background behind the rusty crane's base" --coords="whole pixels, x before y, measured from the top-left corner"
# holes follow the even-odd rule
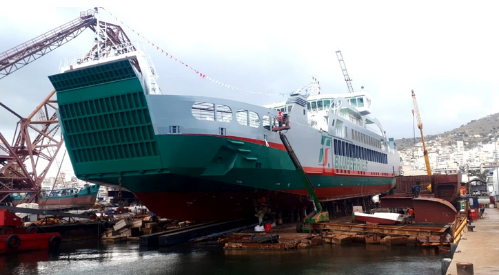
[[[39,207],[44,210],[63,210],[70,208],[90,207],[95,204],[99,185],[85,184],[83,188],[64,188],[41,190]],[[21,194],[12,195],[12,204],[17,206],[23,203]],[[24,201],[26,202],[26,201]]]

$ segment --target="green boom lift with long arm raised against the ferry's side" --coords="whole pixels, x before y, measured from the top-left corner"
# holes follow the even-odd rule
[[[283,142],[283,145],[286,148],[287,154],[289,155],[289,158],[291,158],[294,167],[296,168],[296,170],[298,170],[298,172],[300,172],[303,179],[303,185],[307,189],[310,195],[310,199],[314,201],[314,212],[308,214],[307,217],[303,219],[303,222],[306,224],[306,223],[320,223],[323,221],[329,221],[329,212],[323,211],[323,207],[320,206],[320,201],[316,196],[315,188],[312,185],[312,181],[310,181],[309,177],[307,176],[307,173],[305,173],[305,170],[303,170],[303,166],[301,166],[298,157],[296,157],[296,154],[294,153],[291,144],[289,144],[289,140],[287,140],[286,135],[283,134],[281,131],[279,131],[279,137],[281,137],[281,141]],[[309,230],[310,228],[307,225],[302,225],[298,223],[298,225],[296,226],[296,232],[298,233]]]

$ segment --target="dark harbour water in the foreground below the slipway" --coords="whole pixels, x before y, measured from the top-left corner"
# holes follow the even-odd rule
[[[441,274],[433,248],[352,243],[293,251],[223,250],[216,242],[143,249],[63,243],[57,252],[0,256],[0,274]]]

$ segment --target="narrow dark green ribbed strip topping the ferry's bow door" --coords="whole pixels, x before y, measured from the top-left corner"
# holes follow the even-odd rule
[[[56,74],[48,78],[54,85],[54,89],[61,92],[134,77],[136,77],[136,74],[130,65],[130,61],[123,60],[96,67],[77,69],[64,74]]]

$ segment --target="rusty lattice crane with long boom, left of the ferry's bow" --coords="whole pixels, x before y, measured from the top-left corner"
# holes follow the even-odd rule
[[[97,14],[97,8],[81,12],[77,19],[1,52],[0,79],[72,41],[86,29],[95,33],[88,58],[99,58],[112,49],[118,50],[117,45],[130,44],[119,25],[99,21]],[[136,59],[130,61],[139,69]],[[26,118],[10,109],[7,102],[0,102],[0,107],[19,118],[12,142],[0,132],[0,203],[9,202],[12,193],[25,193],[23,202],[39,201],[41,182],[64,142],[54,94],[52,90]]]

